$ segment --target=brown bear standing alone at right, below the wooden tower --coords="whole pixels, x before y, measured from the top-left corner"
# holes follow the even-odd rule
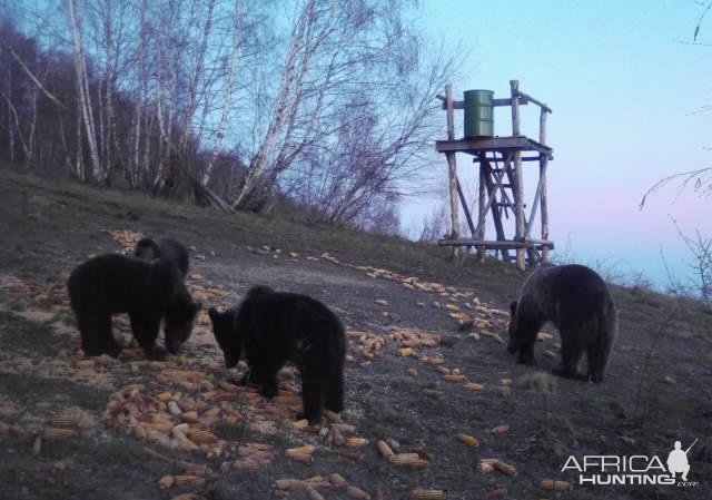
[[[554,374],[584,379],[577,365],[584,351],[585,380],[602,382],[616,335],[616,311],[607,285],[593,269],[568,264],[543,267],[530,275],[518,302],[510,305],[507,350],[517,363],[534,362],[536,335],[552,322],[562,341],[562,367]]]

